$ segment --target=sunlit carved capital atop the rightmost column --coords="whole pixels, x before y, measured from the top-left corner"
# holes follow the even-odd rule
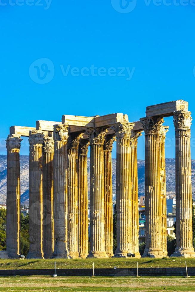
[[[175,130],[188,129],[190,130],[192,124],[190,111],[175,111],[173,122]]]

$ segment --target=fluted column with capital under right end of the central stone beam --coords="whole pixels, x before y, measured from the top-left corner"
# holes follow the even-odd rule
[[[117,136],[117,249],[115,257],[132,253],[130,138],[134,123],[113,126]]]

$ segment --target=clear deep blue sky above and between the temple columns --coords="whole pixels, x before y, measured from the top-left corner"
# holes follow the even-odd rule
[[[136,121],[145,116],[146,105],[184,99],[194,117],[195,6],[181,0],[157,3],[1,0],[0,154],[6,154],[11,125],[60,121],[63,114],[122,112]],[[93,76],[91,65],[105,69]],[[72,67],[88,69],[71,73]],[[125,76],[111,76],[119,67],[128,68]],[[83,76],[87,70],[89,76]],[[172,141],[166,157],[174,157],[172,118],[166,125]],[[192,146],[195,159],[195,142]],[[27,146],[21,154],[28,154]],[[144,159],[143,138],[138,158]]]

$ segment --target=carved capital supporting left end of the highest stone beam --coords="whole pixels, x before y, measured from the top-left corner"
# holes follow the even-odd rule
[[[143,125],[145,135],[159,134],[160,128],[162,124],[164,123],[164,119],[162,117],[146,117],[146,118],[141,118],[140,122]]]

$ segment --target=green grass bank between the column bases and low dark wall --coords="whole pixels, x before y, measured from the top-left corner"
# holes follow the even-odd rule
[[[0,269],[76,269],[92,268],[93,262],[95,268],[136,268],[137,262],[140,268],[160,268],[160,267],[185,267],[185,260],[188,267],[195,267],[195,259],[168,258],[168,259],[150,259],[150,258],[109,258],[109,259],[51,259],[51,260],[2,260],[0,259]]]

